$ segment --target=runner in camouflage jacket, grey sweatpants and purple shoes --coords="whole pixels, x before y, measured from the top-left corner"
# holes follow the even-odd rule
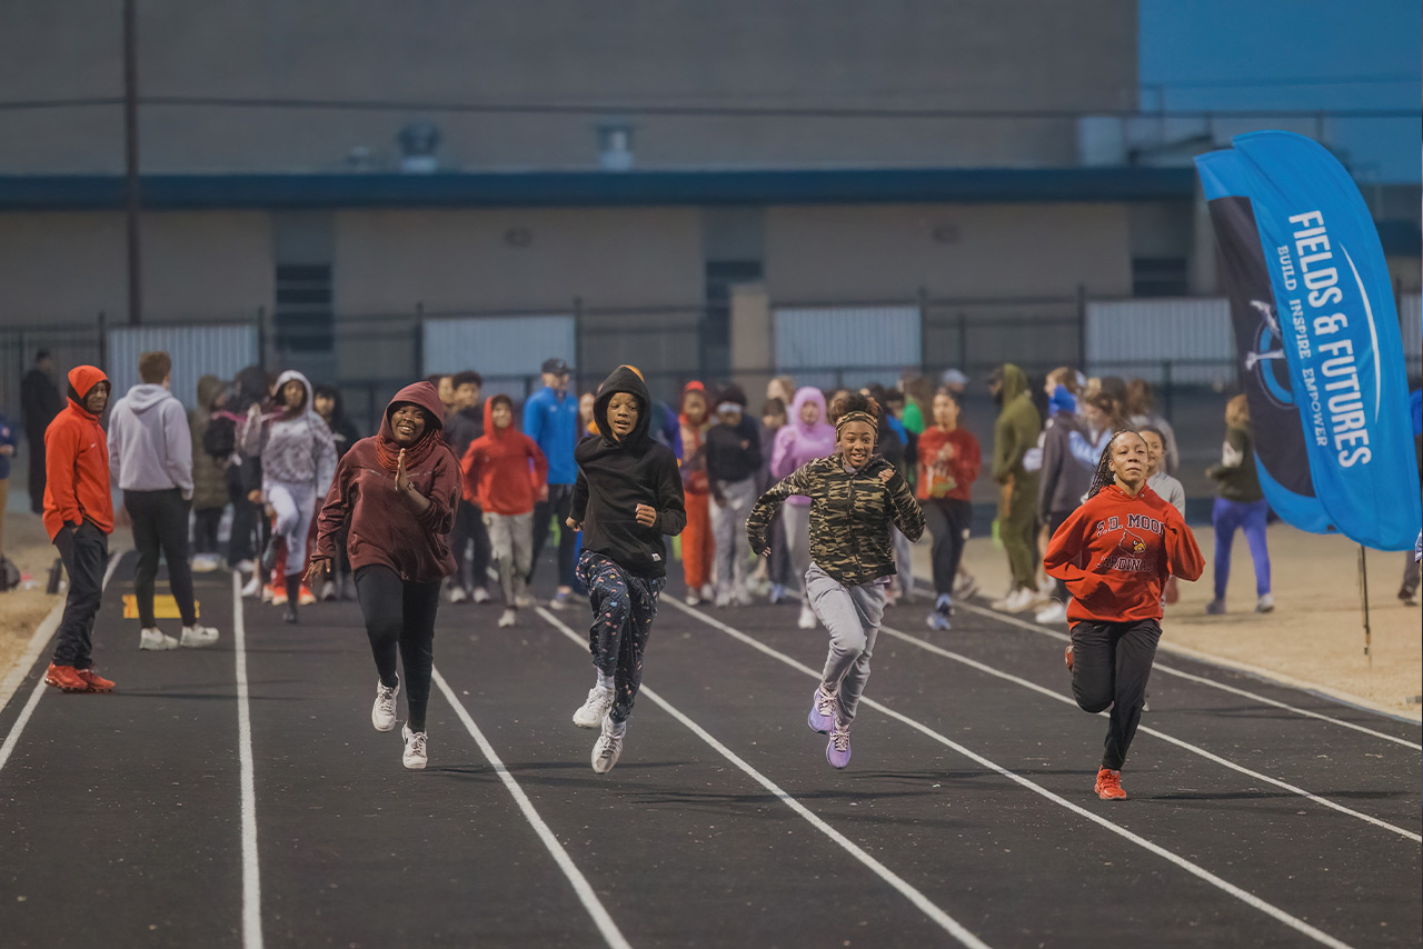
[[[855,393],[830,403],[837,451],[805,462],[761,495],[746,522],[753,551],[764,551],[771,519],[791,495],[810,498],[805,596],[830,630],[830,653],[811,696],[807,724],[830,734],[825,760],[850,764],[850,726],[869,679],[869,657],[895,573],[889,526],[924,535],[924,511],[899,471],[875,454],[879,405]]]

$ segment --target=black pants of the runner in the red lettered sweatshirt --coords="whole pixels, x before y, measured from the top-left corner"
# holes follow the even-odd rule
[[[1147,679],[1161,625],[1154,619],[1134,623],[1093,623],[1072,627],[1072,694],[1093,714],[1111,706],[1101,767],[1120,771],[1127,748],[1141,723]]]

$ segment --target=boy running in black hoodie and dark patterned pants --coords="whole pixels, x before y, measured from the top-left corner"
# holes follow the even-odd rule
[[[618,764],[642,686],[642,654],[667,582],[662,538],[682,534],[687,522],[677,457],[647,434],[650,408],[642,377],[619,366],[598,387],[601,434],[573,450],[578,482],[568,526],[583,532],[578,579],[593,606],[588,647],[598,672],[573,724],[602,728],[592,756],[598,774]]]

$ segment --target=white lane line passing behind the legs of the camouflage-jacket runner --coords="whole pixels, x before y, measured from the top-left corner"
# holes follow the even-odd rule
[[[750,636],[747,636],[741,630],[734,629],[731,626],[727,626],[726,623],[723,623],[719,619],[714,619],[712,616],[707,616],[706,613],[702,613],[700,610],[694,610],[694,609],[692,609],[689,606],[684,606],[684,605],[679,603],[677,600],[675,600],[672,598],[667,598],[663,602],[672,603],[676,609],[680,609],[683,613],[689,613],[690,616],[697,617],[699,620],[702,620],[707,626],[712,626],[713,629],[717,629],[717,630],[726,633],[727,636],[730,636],[730,637],[733,637],[733,639],[736,639],[739,642],[743,642],[747,646],[750,646],[750,647],[753,647],[753,649],[756,649],[758,652],[763,652],[767,656],[770,656],[770,657],[773,657],[773,659],[776,659],[776,660],[778,660],[781,663],[785,663],[791,669],[797,669],[797,670],[800,670],[800,672],[803,672],[803,673],[805,673],[805,674],[808,674],[808,676],[811,676],[814,679],[820,679],[820,670],[811,669],[810,666],[805,666],[804,663],[801,663],[801,662],[798,662],[798,660],[795,660],[795,659],[793,659],[793,657],[790,657],[790,656],[787,656],[787,654],[784,654],[781,652],[777,652],[777,650],[771,649],[770,646],[766,646],[764,643],[760,643],[760,642],[751,639]],[[1205,869],[1200,864],[1194,864],[1194,862],[1185,859],[1184,857],[1180,857],[1180,855],[1177,855],[1177,854],[1165,849],[1160,844],[1153,844],[1147,838],[1140,837],[1137,834],[1133,834],[1127,828],[1120,827],[1117,824],[1113,824],[1107,818],[1100,817],[1100,815],[1089,811],[1087,808],[1084,808],[1084,807],[1081,807],[1079,804],[1073,804],[1067,798],[1064,798],[1064,797],[1062,797],[1062,795],[1059,795],[1059,794],[1056,794],[1053,791],[1049,791],[1043,785],[1036,784],[1035,781],[1030,781],[1030,780],[1022,777],[1020,774],[1009,771],[1007,768],[1005,768],[1003,765],[1000,765],[1000,764],[998,764],[995,761],[989,761],[988,758],[985,758],[983,756],[978,754],[976,751],[972,751],[972,750],[963,747],[962,744],[959,744],[958,741],[953,741],[952,738],[939,734],[938,731],[935,731],[933,728],[931,728],[929,726],[922,724],[922,723],[911,719],[909,716],[898,713],[894,709],[891,709],[888,706],[884,706],[884,704],[881,704],[881,703],[878,703],[878,701],[875,701],[872,699],[864,699],[862,697],[859,700],[859,704],[862,704],[862,706],[865,706],[868,709],[874,709],[875,711],[879,711],[879,713],[882,713],[885,716],[889,716],[895,721],[899,721],[899,723],[902,723],[902,724],[914,728],[915,731],[918,731],[918,733],[921,733],[921,734],[924,734],[924,736],[926,736],[926,737],[938,741],[939,744],[945,746],[946,748],[952,748],[953,751],[956,751],[958,754],[963,756],[969,761],[973,761],[973,763],[976,763],[976,764],[979,764],[979,765],[982,765],[982,767],[985,767],[985,768],[988,768],[990,771],[995,771],[996,774],[1007,778],[1009,781],[1013,781],[1015,784],[1017,784],[1017,785],[1020,785],[1020,787],[1032,791],[1033,794],[1037,794],[1039,797],[1043,797],[1043,798],[1052,801],[1053,804],[1057,804],[1059,807],[1063,807],[1063,808],[1072,811],[1073,814],[1076,814],[1076,815],[1079,815],[1079,817],[1081,817],[1081,818],[1084,818],[1087,821],[1091,821],[1093,824],[1097,824],[1103,829],[1106,829],[1106,831],[1109,831],[1111,834],[1116,834],[1117,837],[1120,837],[1120,838],[1123,838],[1123,839],[1126,839],[1126,841],[1128,841],[1131,844],[1136,844],[1137,847],[1140,847],[1141,849],[1144,849],[1147,852],[1155,854],[1161,859],[1164,859],[1164,861],[1167,861],[1170,864],[1174,864],[1175,866],[1180,866],[1185,872],[1191,874],[1192,876],[1195,876],[1198,879],[1205,881],[1207,884],[1210,884],[1211,886],[1215,886],[1221,892],[1225,892],[1225,894],[1234,896],[1235,899],[1241,901],[1247,906],[1258,909],[1259,912],[1265,913],[1266,916],[1271,916],[1271,918],[1276,919],[1278,922],[1285,923],[1286,926],[1289,926],[1295,932],[1299,932],[1299,933],[1302,933],[1305,936],[1309,936],[1311,939],[1313,939],[1313,940],[1316,940],[1316,942],[1319,942],[1319,943],[1322,943],[1325,946],[1331,946],[1332,949],[1349,949],[1349,943],[1340,942],[1339,939],[1335,939],[1329,933],[1326,933],[1326,932],[1323,932],[1321,929],[1316,929],[1315,926],[1311,926],[1303,919],[1299,919],[1298,916],[1292,916],[1291,913],[1288,913],[1284,909],[1275,906],[1274,903],[1265,902],[1264,899],[1261,899],[1255,894],[1252,894],[1249,891],[1245,891],[1245,889],[1241,889],[1239,886],[1237,886],[1235,884],[1231,884],[1229,881],[1221,879],[1220,876],[1217,876],[1211,871]]]

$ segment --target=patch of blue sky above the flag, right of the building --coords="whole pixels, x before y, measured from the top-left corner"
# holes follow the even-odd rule
[[[1143,111],[1412,110],[1328,118],[1323,144],[1360,182],[1423,181],[1419,0],[1140,0],[1138,28]]]

